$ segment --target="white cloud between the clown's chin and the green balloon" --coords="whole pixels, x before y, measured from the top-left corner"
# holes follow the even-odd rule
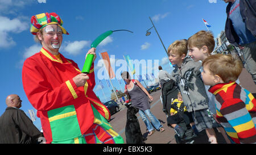
[[[81,52],[82,48],[90,45],[90,41],[65,41],[65,44],[67,44],[63,49],[65,52],[69,53],[69,55],[78,55]]]

